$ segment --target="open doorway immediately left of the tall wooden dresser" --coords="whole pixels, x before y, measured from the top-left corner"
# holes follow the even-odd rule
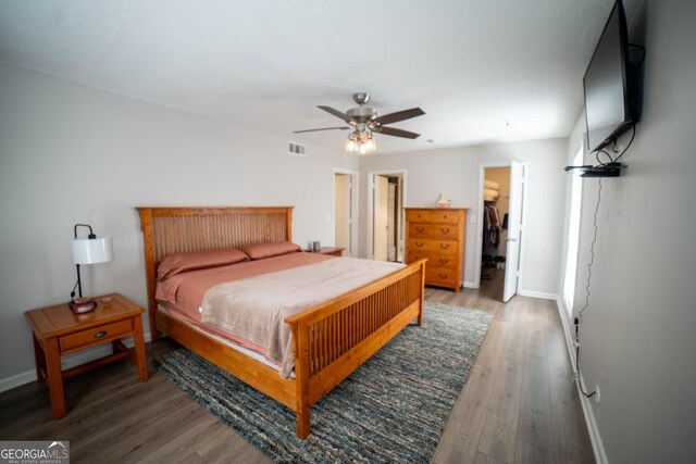
[[[406,172],[368,173],[369,256],[377,261],[403,262],[403,191]]]

